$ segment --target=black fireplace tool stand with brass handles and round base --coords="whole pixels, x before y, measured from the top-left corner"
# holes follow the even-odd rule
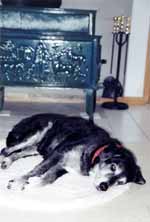
[[[110,73],[113,73],[113,65],[114,65],[114,55],[115,55],[115,47],[117,47],[117,66],[116,66],[116,78],[114,78],[114,93],[113,93],[113,101],[112,102],[104,102],[102,104],[103,108],[107,109],[116,109],[116,110],[125,110],[128,109],[128,105],[126,103],[118,102],[118,84],[121,73],[121,64],[123,59],[123,49],[125,49],[125,57],[124,57],[124,67],[123,67],[123,86],[125,85],[125,77],[126,77],[126,67],[127,67],[127,55],[128,55],[128,44],[129,44],[129,35],[130,35],[130,17],[125,16],[115,16],[113,18],[113,33],[112,33],[112,54],[111,54],[111,65],[110,65]],[[113,78],[113,77],[112,77]],[[123,91],[122,93],[123,94]]]

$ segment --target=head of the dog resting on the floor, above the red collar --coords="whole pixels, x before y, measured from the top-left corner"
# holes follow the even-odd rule
[[[132,152],[116,141],[106,145],[105,149],[93,159],[91,174],[98,190],[106,191],[112,185],[129,182],[145,184],[140,167]]]

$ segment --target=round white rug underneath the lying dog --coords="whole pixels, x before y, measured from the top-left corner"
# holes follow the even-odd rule
[[[4,147],[4,141],[0,147]],[[0,206],[23,211],[61,212],[86,209],[106,204],[126,192],[130,185],[112,187],[107,192],[97,191],[89,177],[66,174],[52,185],[39,187],[39,180],[30,180],[25,191],[8,190],[8,180],[23,175],[41,161],[32,157],[16,161],[7,170],[0,169]]]

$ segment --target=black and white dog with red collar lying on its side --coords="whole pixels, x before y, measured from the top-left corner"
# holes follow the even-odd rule
[[[134,155],[117,139],[89,120],[58,114],[38,114],[19,122],[9,132],[6,148],[1,150],[1,168],[33,155],[43,161],[19,179],[8,182],[25,189],[31,177],[40,177],[42,184],[53,183],[74,168],[82,175],[93,176],[98,190],[128,182],[144,184]]]

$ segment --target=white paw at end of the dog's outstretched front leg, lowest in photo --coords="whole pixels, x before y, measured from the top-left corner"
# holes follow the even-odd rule
[[[25,190],[28,184],[29,184],[28,179],[26,179],[25,177],[21,177],[18,179],[9,180],[7,189]]]

